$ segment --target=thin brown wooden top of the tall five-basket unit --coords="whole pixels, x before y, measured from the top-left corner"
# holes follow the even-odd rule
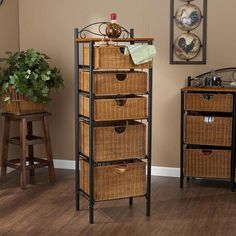
[[[101,41],[102,38],[77,38],[75,41],[76,42],[84,42],[84,43],[89,43],[89,42],[99,42]],[[110,41],[109,38],[104,38],[104,41]],[[153,38],[112,38],[111,39],[114,42],[152,42]]]

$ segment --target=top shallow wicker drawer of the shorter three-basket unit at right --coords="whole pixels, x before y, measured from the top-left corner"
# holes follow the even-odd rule
[[[186,111],[233,111],[232,94],[185,93],[184,109]]]

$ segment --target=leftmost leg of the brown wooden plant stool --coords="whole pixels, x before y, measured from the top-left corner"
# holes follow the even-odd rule
[[[7,166],[5,161],[8,157],[8,139],[10,132],[10,119],[5,116],[4,118],[4,131],[3,131],[3,143],[2,143],[2,158],[1,158],[1,180],[4,181],[7,173]]]

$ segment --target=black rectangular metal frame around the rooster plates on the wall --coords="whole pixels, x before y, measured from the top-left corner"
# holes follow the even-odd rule
[[[202,60],[201,61],[194,61],[194,60],[174,60],[174,1],[170,0],[170,64],[178,64],[178,65],[198,65],[198,64],[206,64],[206,57],[207,57],[207,0],[203,1],[203,30],[202,30]],[[188,1],[187,3],[190,3]],[[190,31],[186,31],[190,32]]]

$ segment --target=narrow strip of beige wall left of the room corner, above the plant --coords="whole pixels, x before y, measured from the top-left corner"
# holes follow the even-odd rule
[[[6,51],[19,50],[18,0],[5,0],[0,6],[0,57]],[[3,123],[0,118],[0,153],[2,144]],[[10,155],[14,152],[10,152]]]

